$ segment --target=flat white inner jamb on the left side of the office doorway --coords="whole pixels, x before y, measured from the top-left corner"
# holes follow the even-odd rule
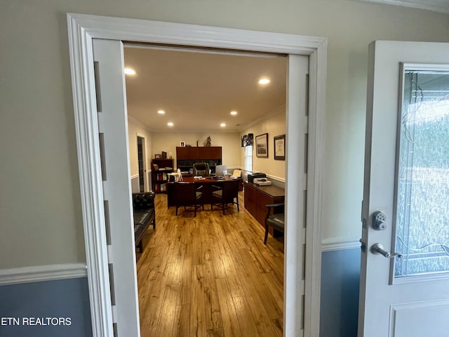
[[[140,336],[122,42],[93,39],[93,60],[114,336]]]

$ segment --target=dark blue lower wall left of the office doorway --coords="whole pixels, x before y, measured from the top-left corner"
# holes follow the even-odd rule
[[[20,325],[2,325],[5,317],[18,318]],[[69,317],[71,324],[27,326],[24,317],[58,317],[65,323]],[[92,336],[86,277],[0,286],[0,337],[53,336]]]

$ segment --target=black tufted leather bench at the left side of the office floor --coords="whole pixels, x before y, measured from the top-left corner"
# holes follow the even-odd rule
[[[134,240],[135,246],[143,251],[142,239],[150,224],[156,229],[154,192],[133,193]]]

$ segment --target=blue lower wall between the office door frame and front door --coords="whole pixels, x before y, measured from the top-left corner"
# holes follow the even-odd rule
[[[360,249],[321,256],[320,337],[356,337]]]

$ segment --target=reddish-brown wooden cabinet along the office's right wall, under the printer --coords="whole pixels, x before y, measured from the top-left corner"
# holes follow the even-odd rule
[[[285,190],[281,187],[259,186],[254,183],[245,183],[245,209],[265,227],[267,204],[278,204],[285,199]],[[269,232],[273,235],[273,229]]]

